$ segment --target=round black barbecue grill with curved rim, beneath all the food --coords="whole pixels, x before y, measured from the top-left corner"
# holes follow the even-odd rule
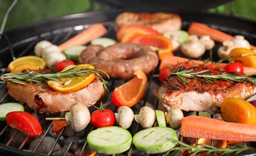
[[[105,1],[107,3],[107,1]],[[112,1],[113,2],[113,1]],[[117,4],[117,3],[116,3]],[[124,7],[123,5],[115,7]],[[185,8],[183,8],[185,9]],[[220,31],[226,32],[230,35],[243,35],[245,39],[251,44],[256,43],[256,22],[251,20],[245,20],[237,17],[224,16],[222,14],[210,14],[201,11],[184,11],[179,8],[180,11],[175,10],[182,18],[182,29],[187,30],[191,22],[204,23],[212,28],[219,29]],[[182,10],[182,11],[181,11]],[[68,16],[57,17],[55,19],[44,20],[42,22],[31,23],[30,25],[21,26],[11,31],[4,32],[0,40],[0,56],[1,56],[1,75],[7,73],[7,65],[14,58],[19,58],[26,55],[34,55],[34,46],[36,43],[42,40],[48,40],[53,44],[59,45],[68,38],[82,32],[87,29],[93,23],[103,23],[108,29],[107,34],[104,37],[115,38],[114,20],[118,14],[124,11],[133,12],[174,12],[173,9],[163,9],[157,10],[152,9],[111,9],[104,11],[93,11],[88,13],[71,14]],[[216,43],[214,46],[213,61],[218,59],[217,48],[221,46],[222,43]],[[175,53],[175,55],[182,55],[181,52]],[[203,55],[200,59],[209,58],[209,53]],[[142,106],[152,106],[155,109],[162,109],[161,104],[159,104],[157,98],[155,97],[156,88],[159,85],[158,69],[148,74],[148,83],[144,96],[138,104],[132,107],[133,112],[139,113],[139,109]],[[104,95],[103,101],[110,101],[112,91],[114,91],[115,86],[119,86],[125,83],[125,80],[109,80],[107,85],[109,94]],[[10,95],[7,94],[7,83],[0,82],[0,103],[7,103],[15,101]],[[5,121],[0,122],[0,154],[2,155],[92,155],[95,154],[91,151],[86,142],[87,134],[93,130],[91,124],[86,127],[85,130],[75,133],[70,127],[66,127],[61,133],[55,134],[51,133],[52,124],[51,121],[45,121],[46,117],[56,117],[65,116],[64,113],[43,113],[39,114],[34,110],[31,110],[26,104],[25,111],[32,113],[39,119],[40,124],[43,128],[43,134],[38,137],[26,136],[25,134],[14,130],[6,125]],[[114,112],[117,111],[117,107],[114,104],[110,104],[107,108],[112,109]],[[90,108],[93,112],[95,109]],[[184,112],[185,115],[193,112]],[[196,115],[199,115],[196,112]],[[213,118],[213,116],[210,116]],[[137,131],[142,130],[141,126],[133,122],[132,126],[128,129],[132,135]],[[179,132],[177,131],[179,134]],[[50,140],[48,138],[51,138]],[[179,136],[180,140],[185,140],[182,136]],[[195,139],[197,140],[197,139]],[[48,143],[45,143],[48,142]],[[42,149],[42,146],[46,146]],[[244,143],[247,146],[255,147],[254,142]],[[43,154],[42,154],[43,153]],[[103,154],[100,154],[103,155]],[[119,155],[119,154],[118,154]],[[137,151],[135,148],[130,149],[120,155],[146,155]],[[155,154],[162,155],[162,154]],[[240,155],[256,155],[255,151],[246,152]]]

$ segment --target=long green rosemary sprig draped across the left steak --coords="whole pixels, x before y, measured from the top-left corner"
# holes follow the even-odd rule
[[[26,70],[27,72],[19,72],[19,73],[5,73],[2,74],[1,80],[5,82],[14,82],[14,83],[19,83],[21,85],[27,85],[26,82],[38,82],[41,83],[42,81],[46,80],[57,80],[60,81],[60,78],[66,78],[66,77],[78,77],[78,76],[87,76],[85,73],[95,73],[100,80],[103,82],[103,86],[105,91],[108,92],[107,90],[107,81],[103,79],[103,77],[100,75],[101,73],[106,74],[107,78],[109,79],[109,75],[105,73],[103,70],[99,69],[92,69],[92,68],[83,68],[83,69],[78,69],[78,70],[72,70],[77,65],[75,65],[72,68],[69,68],[69,70],[66,71],[60,71],[58,73],[47,73],[47,74],[40,74],[37,73],[36,71],[30,71]]]

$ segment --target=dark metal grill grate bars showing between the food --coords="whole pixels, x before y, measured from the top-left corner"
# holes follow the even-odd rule
[[[113,20],[112,20],[113,21]],[[187,30],[188,26],[191,22],[183,22],[182,29]],[[114,30],[114,22],[104,22],[104,26],[108,29],[106,37],[115,38],[115,30]],[[227,29],[224,27],[218,27],[216,25],[210,25],[213,28],[219,29],[221,31],[227,32],[228,34],[235,35],[240,34],[244,35],[246,40],[248,40],[251,44],[255,43],[256,35],[252,34],[251,32],[246,31],[239,31],[237,29]],[[55,29],[53,31],[49,32],[43,32],[42,34],[35,35],[30,38],[25,38],[24,40],[21,40],[17,43],[11,44],[11,49],[13,49],[14,53],[8,53],[5,55],[6,59],[1,67],[1,75],[4,73],[7,73],[7,65],[8,62],[11,61],[12,58],[19,58],[21,56],[25,55],[34,55],[33,48],[36,45],[37,42],[41,40],[48,40],[51,41],[53,44],[60,44],[64,41],[68,40],[68,38],[73,37],[74,35],[78,34],[79,32],[83,31],[84,29],[87,29],[89,25],[76,25],[71,27],[66,27],[63,29]],[[216,59],[216,50],[221,45],[221,43],[217,43],[214,47],[213,51],[210,52],[213,54],[213,59]],[[4,47],[2,52],[10,52],[10,46]],[[210,53],[207,53],[206,55],[203,55],[200,59],[206,59],[210,57]],[[14,55],[14,56],[13,56]],[[181,53],[176,53],[177,56],[182,56]],[[4,61],[4,59],[1,58],[1,61]],[[144,92],[144,96],[142,97],[141,101],[139,101],[138,104],[132,107],[133,112],[139,113],[139,109],[142,106],[152,106],[155,109],[162,109],[161,104],[158,103],[158,99],[155,97],[155,89],[159,85],[158,77],[155,75],[158,74],[158,70],[156,68],[156,71],[153,71],[148,77],[148,83],[146,91]],[[110,101],[111,93],[114,91],[114,88],[116,86],[120,86],[122,83],[125,83],[125,80],[110,80],[109,84],[107,85],[107,88],[110,91],[110,94],[105,94],[103,97],[103,102]],[[7,83],[0,82],[0,103],[7,103],[7,102],[14,102],[15,100],[10,97],[10,95],[7,94]],[[91,124],[86,127],[85,130],[75,133],[71,130],[70,127],[63,128],[63,130],[59,134],[53,134],[51,133],[52,124],[51,121],[45,121],[46,117],[56,117],[65,116],[65,113],[54,113],[54,114],[48,114],[43,113],[39,114],[35,112],[34,110],[31,110],[26,104],[24,104],[25,111],[32,113],[34,116],[39,119],[40,124],[43,125],[43,134],[38,137],[31,137],[31,136],[25,136],[18,130],[14,130],[13,128],[8,127],[5,122],[0,122],[0,153],[2,154],[8,154],[8,153],[14,153],[18,155],[40,155],[39,151],[42,147],[44,141],[48,139],[48,136],[52,137],[54,140],[48,147],[48,149],[45,149],[44,155],[54,155],[56,154],[56,147],[59,145],[61,148],[61,155],[69,155],[70,152],[72,152],[75,155],[89,155],[91,154],[91,150],[88,148],[86,136],[87,134],[93,130],[93,127]],[[114,112],[117,112],[117,107],[114,107],[114,104],[110,104],[107,106],[108,109],[113,110]],[[90,111],[93,112],[95,109],[93,107],[90,108]],[[188,113],[184,112],[186,115]],[[190,113],[190,112],[189,112]],[[200,115],[199,112],[196,112],[196,115]],[[210,116],[213,118],[213,116]],[[132,126],[128,129],[132,136],[139,130],[142,130],[141,126],[139,124],[136,124],[133,122]],[[177,131],[179,133],[179,131]],[[36,140],[36,142],[33,142],[33,140]],[[184,141],[184,137],[179,136],[179,139]],[[198,140],[198,139],[196,139]],[[33,142],[34,148],[29,149],[29,144]],[[213,140],[211,140],[211,144],[213,145]],[[229,145],[229,142],[228,142]],[[245,143],[246,145],[246,143]],[[251,143],[248,144],[248,146],[251,145]],[[89,152],[89,153],[88,153]],[[57,155],[60,153],[57,153]],[[101,154],[100,154],[101,155]],[[125,152],[123,155],[145,155],[141,152],[136,151],[135,148],[130,149],[130,151]],[[162,154],[159,154],[162,155]]]

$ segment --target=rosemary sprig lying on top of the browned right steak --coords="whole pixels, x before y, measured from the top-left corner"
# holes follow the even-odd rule
[[[193,69],[182,70],[182,71],[179,71],[178,69],[175,73],[171,73],[171,75],[178,76],[179,79],[181,79],[181,81],[184,83],[185,87],[187,87],[187,85],[189,84],[189,82],[185,79],[185,77],[190,79],[201,80],[205,83],[213,83],[213,80],[219,79],[219,80],[226,80],[228,82],[250,82],[256,85],[256,78],[252,77],[255,74],[246,74],[243,76],[238,76],[231,73],[219,74],[219,75],[214,75],[213,73],[203,74],[208,70],[210,69],[192,73]]]

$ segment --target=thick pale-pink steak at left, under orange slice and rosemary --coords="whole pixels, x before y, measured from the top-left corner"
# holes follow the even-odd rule
[[[31,109],[43,112],[66,112],[74,103],[80,102],[92,106],[103,95],[103,82],[94,79],[88,86],[74,92],[59,92],[46,83],[28,83],[19,85],[10,83],[8,94],[21,103],[27,103]]]

